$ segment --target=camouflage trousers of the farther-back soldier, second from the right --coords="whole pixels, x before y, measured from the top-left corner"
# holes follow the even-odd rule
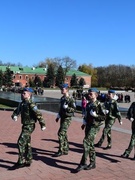
[[[111,128],[114,123],[115,123],[115,119],[109,119],[105,121],[105,127],[103,129],[102,136],[98,142],[99,145],[102,145],[105,137],[107,136],[108,146],[111,146],[112,144]]]

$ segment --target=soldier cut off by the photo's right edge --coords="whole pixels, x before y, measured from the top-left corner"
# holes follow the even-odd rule
[[[123,158],[128,158],[133,148],[135,150],[135,102],[133,102],[128,109],[127,119],[129,119],[132,122],[132,125],[131,125],[132,135],[130,138],[130,143],[129,143],[128,148],[121,155],[121,157]],[[134,152],[133,160],[135,160],[135,152]]]

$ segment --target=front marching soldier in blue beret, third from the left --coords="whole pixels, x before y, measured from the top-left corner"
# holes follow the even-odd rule
[[[88,90],[89,102],[86,106],[86,114],[83,119],[82,129],[85,128],[85,137],[83,140],[84,152],[76,172],[81,170],[90,170],[96,168],[96,152],[94,148],[94,140],[98,133],[101,124],[105,120],[102,105],[97,100],[98,90],[96,88],[90,88]],[[87,158],[90,158],[90,164],[87,165]]]

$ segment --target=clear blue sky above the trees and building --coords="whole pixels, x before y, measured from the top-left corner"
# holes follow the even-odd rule
[[[0,61],[135,64],[134,0],[1,0]]]

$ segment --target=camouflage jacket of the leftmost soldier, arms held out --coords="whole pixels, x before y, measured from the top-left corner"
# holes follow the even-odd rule
[[[22,101],[14,110],[12,116],[21,115],[21,123],[24,125],[36,123],[37,120],[41,127],[45,126],[45,121],[41,112],[32,100]]]

